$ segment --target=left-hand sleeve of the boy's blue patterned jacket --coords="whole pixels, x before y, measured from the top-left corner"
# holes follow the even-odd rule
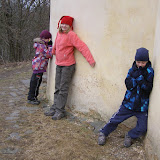
[[[129,69],[127,77],[125,79],[125,85],[128,90],[133,90],[135,87],[137,87],[136,79],[131,77],[131,71],[132,69]]]

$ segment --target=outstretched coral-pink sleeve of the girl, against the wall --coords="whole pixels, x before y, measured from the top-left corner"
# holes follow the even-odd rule
[[[89,48],[83,41],[80,40],[76,33],[73,31],[69,32],[69,39],[72,45],[82,53],[89,64],[95,63]]]

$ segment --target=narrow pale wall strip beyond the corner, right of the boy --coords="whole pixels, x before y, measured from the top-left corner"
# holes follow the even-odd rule
[[[154,86],[150,96],[146,150],[150,159],[160,159],[160,1],[157,12],[153,67]],[[152,147],[150,147],[152,146]]]

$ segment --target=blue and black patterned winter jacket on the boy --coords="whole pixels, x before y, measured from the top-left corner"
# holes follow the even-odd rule
[[[154,70],[149,61],[144,68],[138,68],[136,62],[129,69],[125,84],[125,93],[122,105],[134,111],[148,111],[149,95],[153,87]]]

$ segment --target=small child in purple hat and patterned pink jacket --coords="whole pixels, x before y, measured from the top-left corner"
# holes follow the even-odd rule
[[[43,30],[40,38],[34,39],[34,48],[36,50],[35,57],[32,59],[33,74],[30,80],[30,88],[28,92],[28,103],[38,105],[37,96],[39,94],[39,87],[42,82],[43,73],[46,72],[48,60],[52,58],[52,41],[51,33]]]

